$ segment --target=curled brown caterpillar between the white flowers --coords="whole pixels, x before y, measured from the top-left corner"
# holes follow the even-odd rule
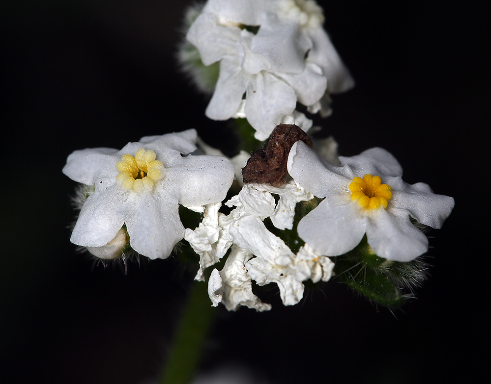
[[[244,183],[270,183],[279,187],[287,181],[287,161],[290,149],[296,141],[302,140],[312,147],[312,140],[294,124],[280,124],[269,136],[266,148],[253,152],[242,168]]]

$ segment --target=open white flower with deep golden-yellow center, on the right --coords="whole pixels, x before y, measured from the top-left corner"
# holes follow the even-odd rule
[[[427,237],[410,221],[440,228],[454,199],[435,195],[425,183],[402,179],[397,160],[381,148],[339,158],[335,167],[303,142],[291,148],[289,174],[325,199],[298,224],[299,236],[321,255],[347,253],[367,235],[375,254],[410,261],[428,250]]]

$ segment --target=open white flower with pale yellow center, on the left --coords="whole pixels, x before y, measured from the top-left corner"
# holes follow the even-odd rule
[[[122,150],[70,154],[63,173],[95,191],[83,205],[71,241],[88,249],[111,245],[125,225],[130,246],[151,259],[168,257],[183,238],[178,205],[222,201],[233,179],[221,156],[183,156],[196,150],[194,129],[146,136]]]

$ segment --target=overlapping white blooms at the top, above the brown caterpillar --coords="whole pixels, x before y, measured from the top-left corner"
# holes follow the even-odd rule
[[[322,29],[320,8],[312,4],[207,1],[186,35],[204,65],[220,62],[206,116],[245,116],[256,138],[265,140],[283,116],[293,114],[297,102],[327,114],[326,90],[341,92],[353,81]],[[257,33],[248,30],[258,27]]]

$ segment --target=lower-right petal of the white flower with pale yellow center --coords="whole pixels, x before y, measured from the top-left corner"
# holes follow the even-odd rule
[[[148,258],[167,258],[184,237],[175,197],[165,193],[133,194],[137,201],[126,214],[130,245]]]

